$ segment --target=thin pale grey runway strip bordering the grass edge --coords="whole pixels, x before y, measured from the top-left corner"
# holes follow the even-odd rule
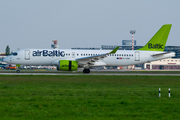
[[[0,73],[0,75],[123,75],[123,76],[180,76],[180,74],[148,74],[148,73]]]

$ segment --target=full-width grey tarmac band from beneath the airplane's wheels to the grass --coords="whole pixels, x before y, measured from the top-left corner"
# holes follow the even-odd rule
[[[0,75],[120,75],[120,76],[180,76],[180,72],[171,73],[166,71],[165,73],[149,71],[150,73],[144,72],[146,70],[91,70],[91,73],[83,73],[81,70],[76,72],[61,72],[56,70],[21,70],[20,73],[16,73],[16,70],[0,70]],[[136,73],[137,72],[137,73]]]

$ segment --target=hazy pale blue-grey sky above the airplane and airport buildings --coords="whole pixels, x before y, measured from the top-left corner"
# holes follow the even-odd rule
[[[0,52],[26,48],[122,45],[136,30],[144,46],[164,24],[166,45],[180,46],[180,0],[0,0]]]

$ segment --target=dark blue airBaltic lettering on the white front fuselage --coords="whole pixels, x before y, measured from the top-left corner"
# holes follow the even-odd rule
[[[48,51],[48,50],[37,50],[37,51],[33,51],[33,56],[49,56],[49,57],[53,57],[53,56],[57,56],[57,57],[64,57],[65,56],[65,52],[64,51],[60,51],[60,50],[53,50],[53,51]]]

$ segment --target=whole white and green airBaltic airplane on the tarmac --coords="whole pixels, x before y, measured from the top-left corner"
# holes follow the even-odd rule
[[[60,71],[90,73],[90,67],[128,66],[175,56],[174,52],[165,52],[164,48],[171,24],[163,25],[149,42],[138,50],[72,50],[72,49],[22,49],[13,52],[3,61],[20,65],[51,65]],[[20,72],[17,70],[16,72]]]

